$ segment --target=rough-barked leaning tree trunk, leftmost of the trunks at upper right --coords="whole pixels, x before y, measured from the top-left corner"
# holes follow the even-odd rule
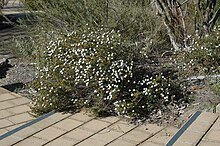
[[[156,0],[155,5],[175,50],[186,47],[186,26],[181,5],[176,0]]]

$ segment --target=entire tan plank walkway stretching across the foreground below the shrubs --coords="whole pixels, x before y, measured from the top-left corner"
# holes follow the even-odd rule
[[[133,125],[118,117],[97,118],[85,113],[50,112],[34,118],[28,114],[29,102],[0,88],[1,146],[165,146],[179,130],[156,124]],[[219,115],[201,112],[172,145],[219,146]]]

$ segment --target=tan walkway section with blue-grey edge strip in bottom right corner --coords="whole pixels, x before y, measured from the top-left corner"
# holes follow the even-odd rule
[[[219,114],[196,112],[167,146],[220,146]]]

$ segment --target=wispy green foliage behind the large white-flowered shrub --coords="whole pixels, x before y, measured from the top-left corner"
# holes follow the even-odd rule
[[[16,54],[34,58],[50,40],[50,32],[103,27],[119,30],[127,46],[142,49],[145,53],[163,53],[170,48],[161,18],[155,15],[149,0],[27,0],[37,21],[25,38],[15,40]],[[37,10],[37,11],[36,11]],[[150,43],[149,43],[150,42]]]

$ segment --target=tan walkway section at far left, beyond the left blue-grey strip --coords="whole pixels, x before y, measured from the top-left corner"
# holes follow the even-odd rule
[[[0,135],[34,119],[28,114],[29,103],[30,100],[0,88]]]

